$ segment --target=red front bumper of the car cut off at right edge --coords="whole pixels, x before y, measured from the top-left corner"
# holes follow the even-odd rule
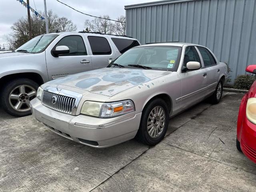
[[[240,145],[243,153],[256,163],[256,125],[250,122],[246,116],[242,124]]]

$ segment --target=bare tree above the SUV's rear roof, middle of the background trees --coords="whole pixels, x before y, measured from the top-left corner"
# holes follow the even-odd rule
[[[101,18],[94,18],[94,20],[86,20],[84,22],[84,28],[89,28],[92,32],[100,32],[104,34],[113,34],[114,24],[108,20],[110,16],[103,15]]]

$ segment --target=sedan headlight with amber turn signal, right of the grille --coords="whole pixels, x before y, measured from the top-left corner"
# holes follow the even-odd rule
[[[96,117],[115,117],[135,111],[134,103],[131,100],[124,100],[112,103],[101,103],[94,101],[84,102],[81,113]]]

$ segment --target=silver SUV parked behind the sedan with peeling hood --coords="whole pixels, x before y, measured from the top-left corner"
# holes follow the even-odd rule
[[[56,78],[106,67],[138,46],[126,36],[63,32],[33,38],[10,53],[0,54],[1,106],[14,116],[30,112],[38,86]]]

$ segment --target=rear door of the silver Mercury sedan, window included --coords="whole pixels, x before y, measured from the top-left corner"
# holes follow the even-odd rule
[[[207,73],[207,86],[208,86],[208,94],[214,92],[216,89],[216,85],[218,83],[218,78],[220,76],[220,69],[218,68],[216,59],[210,53],[207,48],[197,46],[200,55],[202,56],[202,60],[204,63],[204,68]]]

